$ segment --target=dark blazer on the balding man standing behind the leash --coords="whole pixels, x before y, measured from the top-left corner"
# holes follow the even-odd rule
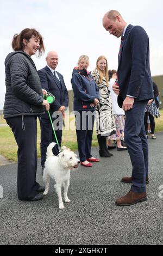
[[[65,86],[64,77],[57,72],[60,82],[57,77],[54,77],[51,70],[46,66],[43,69],[37,71],[40,77],[42,89],[47,90],[47,92],[52,93],[55,96],[54,103],[50,105],[51,117],[54,111],[58,111],[61,106],[68,106],[68,91]],[[60,84],[61,83],[61,84]],[[49,118],[48,113],[40,115],[41,118]]]

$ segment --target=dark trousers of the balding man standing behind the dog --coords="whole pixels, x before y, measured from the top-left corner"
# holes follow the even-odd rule
[[[54,121],[54,120],[53,120]],[[47,147],[51,142],[56,142],[50,119],[40,118],[41,126],[41,166],[45,165]],[[54,128],[55,129],[55,128]],[[62,130],[55,129],[58,143],[61,147]],[[56,142],[57,143],[57,142]],[[53,154],[59,154],[58,145],[53,148]]]

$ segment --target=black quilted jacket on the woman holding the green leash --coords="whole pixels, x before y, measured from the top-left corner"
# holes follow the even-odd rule
[[[4,118],[44,112],[40,78],[30,56],[15,51],[5,58]]]

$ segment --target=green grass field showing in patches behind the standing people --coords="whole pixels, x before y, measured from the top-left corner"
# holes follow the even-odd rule
[[[163,109],[160,109],[161,118],[155,118],[155,132],[163,131]],[[70,119],[74,122],[73,118]],[[0,124],[4,124],[5,120],[0,118]],[[73,126],[74,127],[74,126]],[[14,135],[9,126],[0,126],[0,154],[7,157],[10,161],[17,161],[17,144]],[[71,150],[76,151],[77,137],[75,130],[63,130],[62,145],[65,145]],[[96,131],[93,131],[92,147],[97,147]],[[40,124],[37,123],[37,155],[40,157]]]

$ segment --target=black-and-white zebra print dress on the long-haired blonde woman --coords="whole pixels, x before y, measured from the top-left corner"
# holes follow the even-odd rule
[[[99,84],[100,74],[97,69],[92,72],[92,77],[99,88],[100,95],[100,102],[95,109],[97,135],[108,137],[116,132],[109,86],[106,84],[105,77],[103,77],[101,84]]]

